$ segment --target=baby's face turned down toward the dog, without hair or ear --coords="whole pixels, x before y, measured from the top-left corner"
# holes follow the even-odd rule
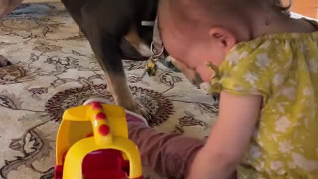
[[[176,27],[171,20],[161,21],[160,33],[163,44],[169,54],[188,68],[195,70],[207,82],[213,72],[207,67],[211,62],[219,66],[225,57],[225,49],[206,32]]]

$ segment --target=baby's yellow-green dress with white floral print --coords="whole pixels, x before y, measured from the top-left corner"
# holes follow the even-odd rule
[[[239,43],[218,70],[211,92],[263,96],[239,179],[318,179],[318,32]]]

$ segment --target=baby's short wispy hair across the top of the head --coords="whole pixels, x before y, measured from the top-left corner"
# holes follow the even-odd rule
[[[286,5],[286,2],[289,4]],[[292,0],[159,0],[159,21],[169,14],[179,25],[199,27],[232,26],[232,22],[251,26],[254,13],[270,17],[272,14],[289,15]],[[168,12],[168,13],[166,13]],[[268,15],[266,15],[268,14]],[[212,18],[210,18],[212,17]],[[266,24],[271,23],[266,19]],[[212,22],[213,21],[213,22]],[[265,22],[265,19],[264,19]]]

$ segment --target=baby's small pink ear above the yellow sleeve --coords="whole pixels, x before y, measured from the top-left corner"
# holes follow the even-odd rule
[[[228,52],[236,43],[237,39],[234,34],[222,27],[212,27],[209,31],[209,36],[213,41],[217,42],[222,48]]]

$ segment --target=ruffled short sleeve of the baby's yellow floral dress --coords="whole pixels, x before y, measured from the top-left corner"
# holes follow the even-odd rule
[[[215,76],[211,93],[227,91],[234,95],[262,95],[271,93],[273,63],[271,41],[240,43],[226,56],[219,71],[212,65]],[[275,51],[275,50],[274,50]]]

